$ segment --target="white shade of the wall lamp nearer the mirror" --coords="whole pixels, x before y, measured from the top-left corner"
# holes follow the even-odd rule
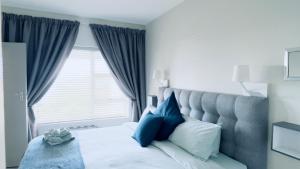
[[[233,67],[232,81],[247,82],[249,81],[249,65],[235,65]]]

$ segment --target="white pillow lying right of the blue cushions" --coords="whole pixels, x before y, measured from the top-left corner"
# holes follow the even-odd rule
[[[188,120],[176,127],[169,140],[196,157],[208,160],[219,152],[221,126]]]

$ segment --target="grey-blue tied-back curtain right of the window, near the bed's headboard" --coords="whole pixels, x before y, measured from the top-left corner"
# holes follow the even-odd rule
[[[131,120],[146,106],[145,31],[90,24],[104,59],[121,90],[131,99]]]

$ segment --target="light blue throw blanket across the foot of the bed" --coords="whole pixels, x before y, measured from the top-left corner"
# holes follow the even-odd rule
[[[25,152],[19,169],[84,169],[77,139],[56,146],[33,139]]]

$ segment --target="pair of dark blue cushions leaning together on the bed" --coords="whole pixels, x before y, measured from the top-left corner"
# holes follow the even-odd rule
[[[167,140],[175,128],[184,121],[175,94],[172,93],[153,113],[148,113],[140,120],[133,138],[142,147],[146,147],[154,139]]]

